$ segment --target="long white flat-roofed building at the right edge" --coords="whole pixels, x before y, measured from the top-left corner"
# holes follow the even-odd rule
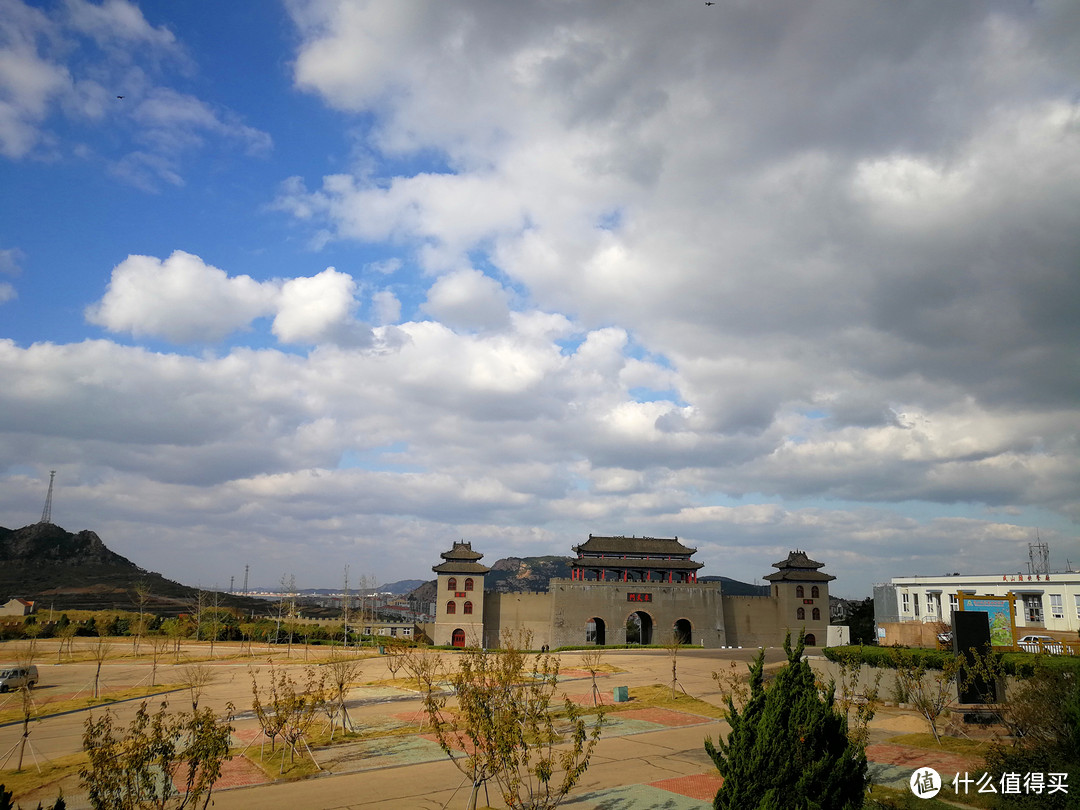
[[[891,623],[951,623],[960,594],[1015,600],[1017,637],[1041,634],[1076,642],[1080,633],[1080,572],[960,573],[893,577],[874,586],[874,613],[880,629]]]

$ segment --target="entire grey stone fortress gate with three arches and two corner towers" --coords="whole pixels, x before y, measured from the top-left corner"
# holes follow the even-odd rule
[[[484,556],[461,541],[442,554],[436,645],[498,647],[505,633],[528,634],[534,647],[680,644],[702,647],[779,646],[787,632],[825,639],[828,583],[822,563],[793,551],[773,563],[758,595],[728,596],[719,578],[702,582],[696,549],[676,538],[599,537],[573,546],[570,577],[546,591],[485,588]],[[519,637],[519,636],[517,636]]]

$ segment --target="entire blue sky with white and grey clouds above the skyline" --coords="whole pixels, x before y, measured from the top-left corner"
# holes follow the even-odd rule
[[[1080,4],[0,0],[0,525],[191,584],[1080,565]]]

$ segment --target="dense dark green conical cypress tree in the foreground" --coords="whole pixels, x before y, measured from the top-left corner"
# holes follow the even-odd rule
[[[787,664],[764,681],[765,650],[750,667],[750,700],[742,711],[728,699],[727,741],[705,751],[724,785],[716,810],[856,810],[866,789],[866,753],[848,739],[848,721],[833,705],[831,686],[819,693],[802,636],[784,639]]]

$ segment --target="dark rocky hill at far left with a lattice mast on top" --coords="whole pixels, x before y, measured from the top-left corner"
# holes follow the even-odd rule
[[[156,613],[188,612],[199,593],[139,568],[93,531],[71,534],[51,523],[0,527],[0,603],[21,596],[37,602],[39,610],[134,610],[140,584],[149,590],[147,607]],[[268,603],[248,596],[216,598],[222,607],[269,610]]]

